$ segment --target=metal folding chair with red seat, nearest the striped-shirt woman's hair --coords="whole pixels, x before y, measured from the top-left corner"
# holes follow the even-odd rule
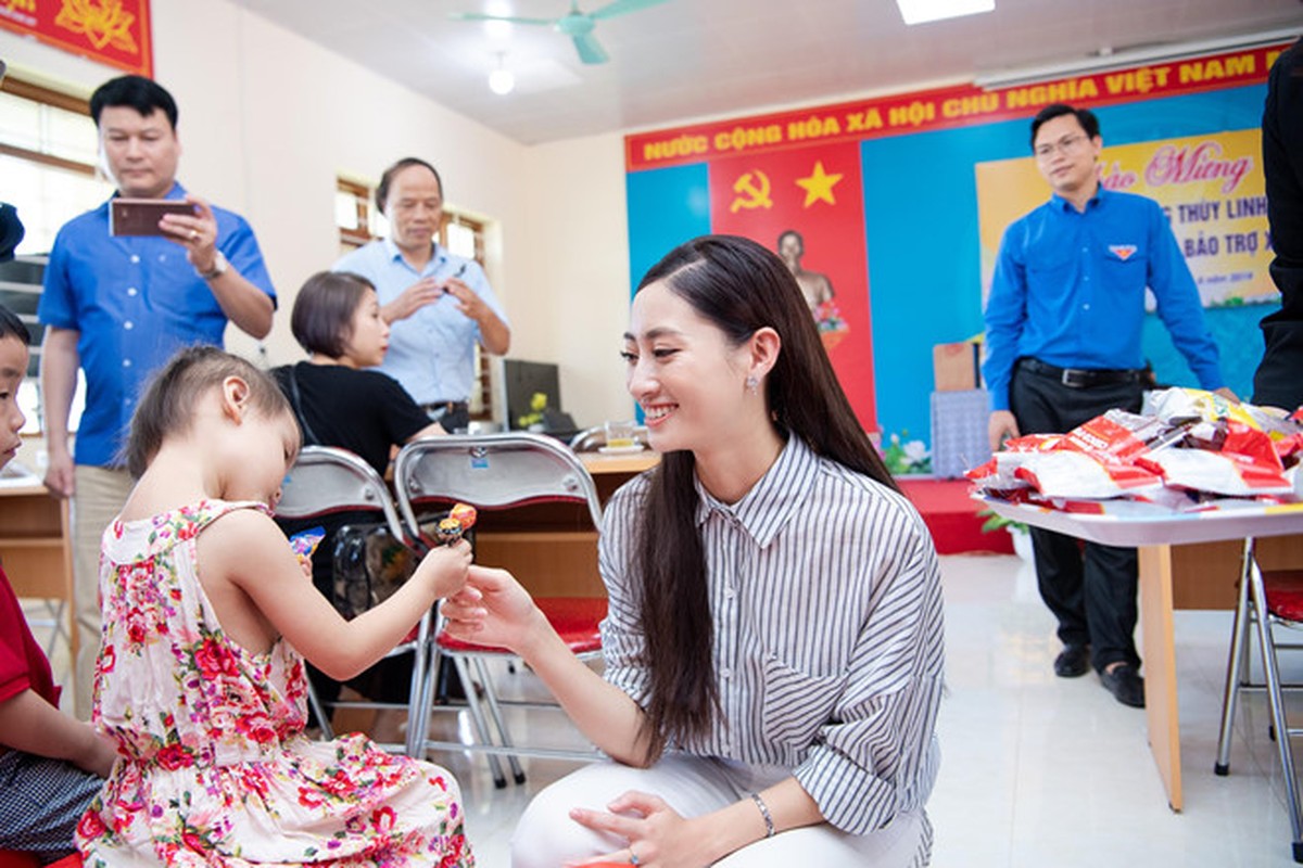
[[[452,502],[466,502],[478,510],[491,511],[511,509],[529,504],[549,501],[569,501],[585,505],[594,528],[602,523],[602,506],[598,501],[593,478],[579,457],[562,442],[537,433],[509,432],[490,435],[459,435],[451,437],[429,437],[409,442],[399,453],[394,465],[394,485],[399,510],[413,535],[422,536],[420,513],[434,505],[447,506]],[[425,540],[427,544],[431,540]],[[528,583],[528,576],[521,576]],[[549,621],[567,642],[571,651],[581,658],[601,653],[602,643],[598,625],[606,617],[605,597],[536,597],[534,603],[547,616]],[[489,755],[494,781],[504,786],[506,781],[498,763],[499,755],[506,755],[517,783],[524,782],[517,756],[539,756],[592,761],[601,759],[595,748],[575,751],[554,747],[523,744],[512,738],[502,716],[502,705],[538,707],[538,703],[504,701],[498,696],[485,661],[489,658],[511,657],[506,648],[464,643],[439,631],[435,644],[438,652],[453,661],[457,675],[466,692],[466,707],[474,722],[478,740],[440,742],[430,740],[422,731],[421,738],[429,750],[460,751],[473,750]],[[472,679],[472,668],[477,675]],[[409,722],[409,735],[421,721],[422,730],[429,726],[429,713],[434,711],[434,682],[438,666],[433,662],[426,670],[422,707],[426,714]],[[485,708],[476,692],[476,683],[483,691],[483,705],[487,717],[496,730],[496,742],[490,734]],[[545,705],[556,708],[555,704]]]

